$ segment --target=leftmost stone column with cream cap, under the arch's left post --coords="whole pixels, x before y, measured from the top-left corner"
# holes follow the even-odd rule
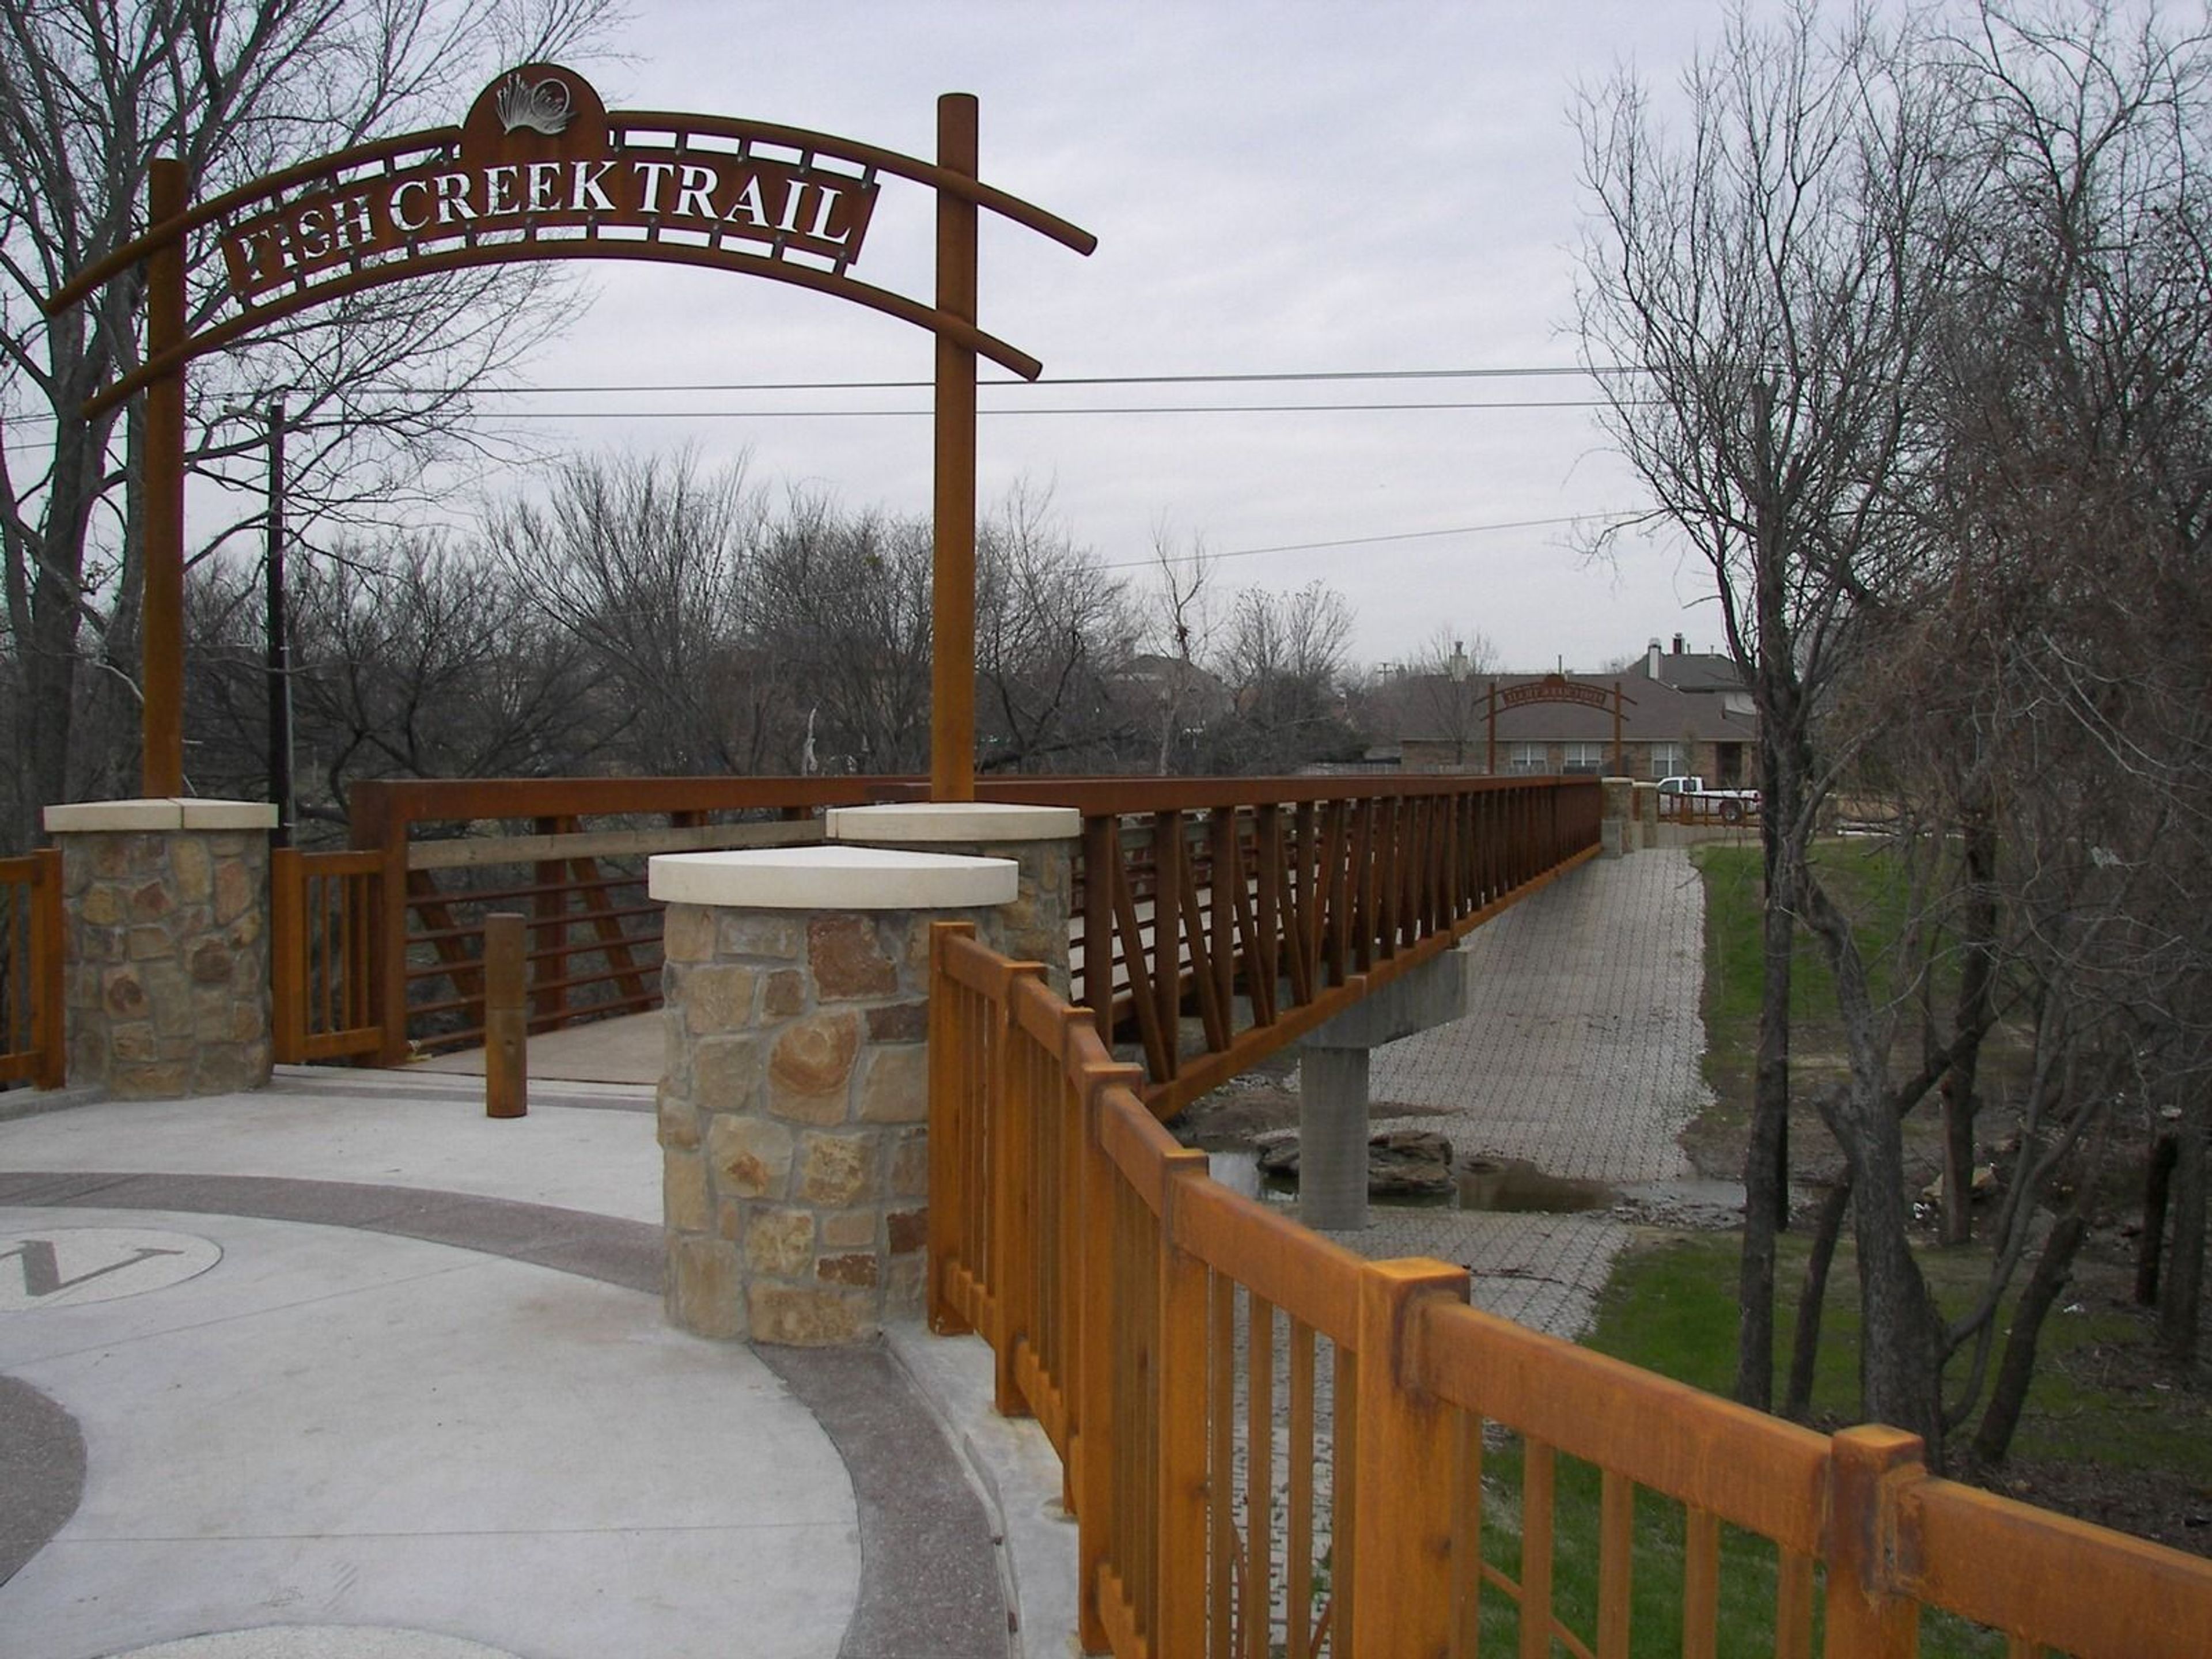
[[[270,1079],[270,836],[257,801],[46,807],[62,849],[71,1086],[184,1099]]]

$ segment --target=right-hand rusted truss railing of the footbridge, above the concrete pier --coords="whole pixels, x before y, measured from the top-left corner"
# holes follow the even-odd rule
[[[1595,779],[1000,785],[1084,812],[1075,1000],[1161,1117],[1597,854]],[[1186,1029],[1186,1013],[1194,1029]]]

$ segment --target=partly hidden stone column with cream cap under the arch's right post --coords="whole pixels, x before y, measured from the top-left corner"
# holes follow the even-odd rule
[[[975,933],[1015,962],[1044,962],[1046,984],[1057,995],[1068,995],[1068,900],[1075,889],[1075,843],[1084,834],[1084,814],[1075,807],[925,801],[830,807],[823,818],[830,841],[847,845],[1013,860],[1013,902],[989,911]]]

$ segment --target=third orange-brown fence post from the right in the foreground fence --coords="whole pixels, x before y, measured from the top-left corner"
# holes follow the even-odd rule
[[[1206,1652],[1206,1509],[1228,1491],[1210,1493],[1206,1478],[1206,1263],[1175,1241],[1175,1212],[1188,1186],[1206,1177],[1206,1152],[1161,1157],[1159,1203],[1159,1332],[1152,1413],[1159,1440],[1159,1528],[1152,1584],[1159,1628],[1152,1652]],[[1225,1482],[1225,1471],[1223,1471]],[[1228,1562],[1214,1562],[1217,1573]]]

